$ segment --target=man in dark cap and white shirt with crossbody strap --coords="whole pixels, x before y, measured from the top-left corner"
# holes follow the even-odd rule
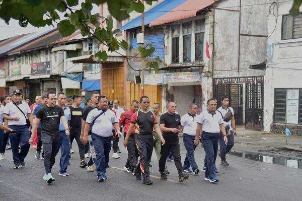
[[[30,138],[29,129],[26,125],[27,119],[33,126],[33,115],[28,104],[21,101],[21,91],[16,89],[13,91],[13,101],[8,103],[4,109],[4,119],[9,128],[16,130],[16,133],[10,133],[14,168],[19,168],[20,164],[25,166],[24,159],[28,154],[30,145],[28,140]],[[19,153],[19,145],[21,147]]]

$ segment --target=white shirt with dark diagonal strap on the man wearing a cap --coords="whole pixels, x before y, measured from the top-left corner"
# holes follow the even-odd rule
[[[26,118],[24,115],[31,113],[30,107],[27,103],[24,102],[20,102],[18,107],[22,110],[23,113],[17,108],[16,103],[10,102],[6,104],[4,114],[20,117],[19,121],[9,120],[9,125],[26,125]]]

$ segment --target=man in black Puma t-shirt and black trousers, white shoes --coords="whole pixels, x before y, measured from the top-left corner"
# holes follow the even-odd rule
[[[41,121],[41,140],[44,150],[44,167],[46,172],[43,176],[43,180],[46,180],[47,183],[54,181],[54,178],[51,175],[51,168],[54,165],[56,150],[59,146],[60,120],[64,125],[66,135],[69,136],[68,123],[64,116],[64,111],[61,107],[56,105],[56,99],[55,93],[49,92],[47,94],[47,105],[38,110],[36,114],[36,122],[32,129],[32,135],[28,141],[29,144],[33,143],[35,132]]]

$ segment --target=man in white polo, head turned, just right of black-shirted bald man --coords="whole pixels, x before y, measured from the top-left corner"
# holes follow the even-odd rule
[[[191,173],[191,166],[194,175],[197,175],[200,172],[194,157],[194,151],[197,147],[194,145],[194,140],[196,136],[197,120],[199,119],[197,108],[198,107],[195,103],[190,103],[189,112],[183,115],[180,119],[180,125],[183,129],[183,142],[187,150],[183,168],[185,172]]]

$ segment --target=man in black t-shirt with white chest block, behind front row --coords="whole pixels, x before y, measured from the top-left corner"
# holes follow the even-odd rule
[[[75,139],[79,147],[80,154],[80,167],[86,167],[87,163],[85,162],[85,147],[83,142],[80,140],[81,137],[81,128],[82,128],[82,116],[83,109],[80,107],[82,104],[82,97],[79,95],[73,95],[72,105],[69,107],[71,119],[69,121],[70,126],[70,143]]]

